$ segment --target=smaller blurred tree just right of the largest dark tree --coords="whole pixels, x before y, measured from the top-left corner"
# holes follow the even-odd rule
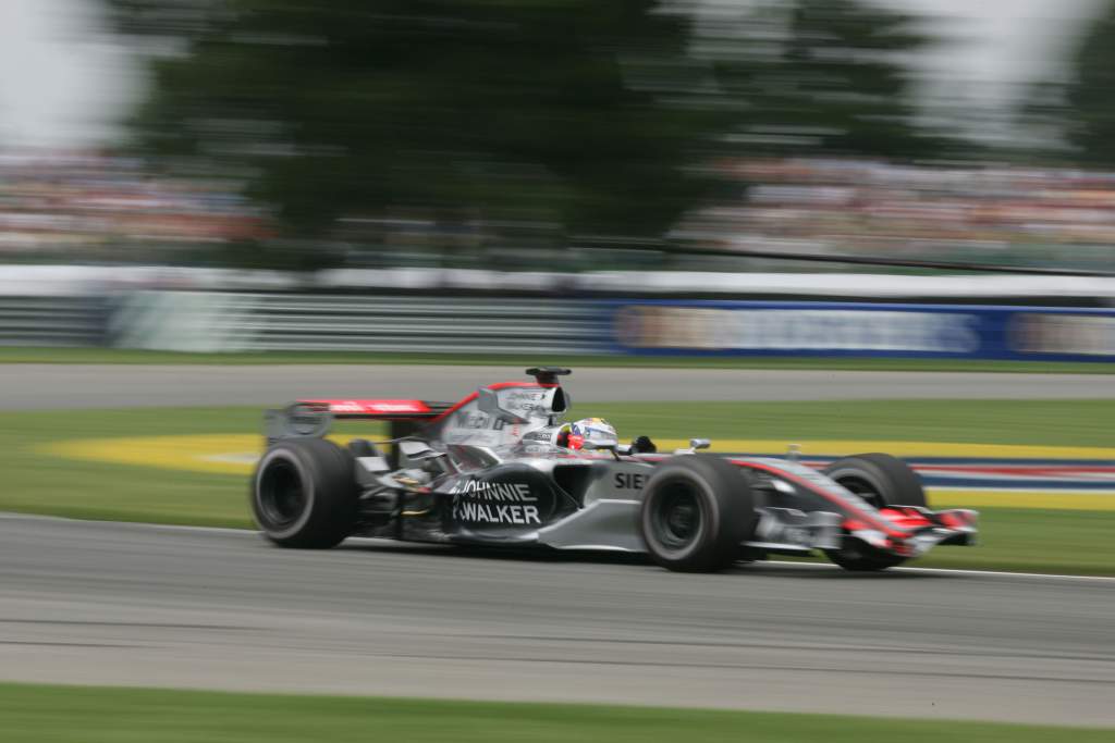
[[[719,62],[726,89],[746,106],[744,144],[775,155],[942,154],[946,143],[915,121],[904,62],[930,43],[915,21],[857,0],[766,6],[753,43]]]

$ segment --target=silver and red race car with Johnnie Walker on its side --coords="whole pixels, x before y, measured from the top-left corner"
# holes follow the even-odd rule
[[[328,548],[352,535],[409,541],[648,553],[671,570],[717,570],[769,555],[824,551],[879,570],[934,545],[975,541],[977,514],[932,511],[918,475],[881,453],[817,471],[721,457],[707,440],[661,454],[621,446],[600,419],[562,423],[569,370],[491,384],[456,404],[302,400],[269,411],[252,477],[263,534]],[[390,439],[324,438],[333,419],[390,422]]]

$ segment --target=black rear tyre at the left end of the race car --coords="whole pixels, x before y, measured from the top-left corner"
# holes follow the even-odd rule
[[[252,476],[252,514],[281,547],[328,549],[356,525],[355,459],[324,439],[288,439],[268,449]]]

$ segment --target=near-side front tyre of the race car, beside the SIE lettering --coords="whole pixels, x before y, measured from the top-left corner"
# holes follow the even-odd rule
[[[712,454],[682,454],[642,489],[639,534],[665,568],[709,573],[734,563],[758,515],[747,472]]]

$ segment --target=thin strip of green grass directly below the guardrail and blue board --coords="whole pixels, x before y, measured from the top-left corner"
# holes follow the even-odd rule
[[[0,349],[0,363],[81,364],[464,364],[530,366],[539,363],[578,366],[648,366],[665,369],[826,369],[849,371],[1059,372],[1112,374],[1115,363],[1047,361],[970,361],[966,359],[842,359],[842,358],[706,358],[566,355],[537,359],[522,354],[266,352],[178,353],[126,349]]]

